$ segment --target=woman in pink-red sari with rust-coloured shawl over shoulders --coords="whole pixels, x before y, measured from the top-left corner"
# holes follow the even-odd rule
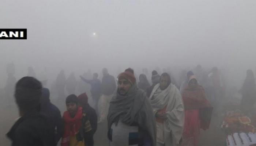
[[[204,88],[198,85],[196,76],[189,78],[188,86],[181,93],[185,107],[183,145],[198,145],[200,128],[209,128],[212,106],[206,99]]]

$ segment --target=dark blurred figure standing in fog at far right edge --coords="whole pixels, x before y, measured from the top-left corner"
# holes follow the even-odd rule
[[[252,112],[253,104],[256,101],[256,86],[251,69],[247,70],[244,84],[239,92],[242,94],[241,110],[244,113]]]

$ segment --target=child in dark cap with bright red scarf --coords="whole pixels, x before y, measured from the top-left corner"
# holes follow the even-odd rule
[[[69,95],[66,99],[67,111],[63,114],[65,123],[64,134],[61,146],[84,146],[82,126],[82,107],[78,106],[78,98],[76,95]]]

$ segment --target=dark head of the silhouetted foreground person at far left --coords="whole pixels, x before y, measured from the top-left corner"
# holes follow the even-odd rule
[[[37,108],[42,96],[42,84],[34,77],[23,77],[16,83],[14,96],[21,110]]]

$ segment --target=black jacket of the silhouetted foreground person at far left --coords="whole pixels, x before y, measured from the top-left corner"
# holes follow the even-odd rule
[[[7,133],[12,146],[52,146],[55,145],[54,131],[49,118],[36,110],[19,118]]]

